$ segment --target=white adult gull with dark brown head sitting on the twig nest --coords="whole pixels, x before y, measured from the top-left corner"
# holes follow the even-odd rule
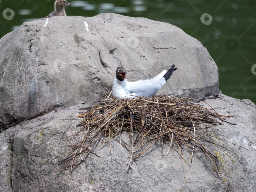
[[[125,67],[118,67],[112,87],[113,97],[115,99],[135,98],[137,96],[151,97],[159,91],[176,69],[172,65],[168,71],[163,70],[153,78],[130,82],[126,79]]]

